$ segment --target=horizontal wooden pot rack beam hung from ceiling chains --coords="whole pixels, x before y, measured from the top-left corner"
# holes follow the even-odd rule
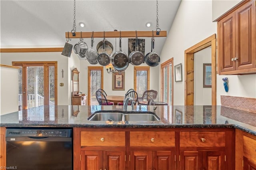
[[[122,33],[122,38],[134,38],[136,37],[136,32],[135,31],[121,31]],[[82,34],[82,35],[81,35]],[[66,32],[65,33],[66,38],[91,38],[92,37],[92,32],[82,32],[79,33],[77,32],[76,36],[73,36],[71,32]],[[156,34],[156,31],[153,31],[154,37],[166,37],[167,33],[166,31],[159,32],[159,35]],[[137,36],[138,37],[152,37],[152,31],[137,31]],[[104,37],[104,32],[93,32],[93,38],[103,38]],[[119,38],[120,37],[120,32],[116,31],[106,31],[105,32],[105,38]]]

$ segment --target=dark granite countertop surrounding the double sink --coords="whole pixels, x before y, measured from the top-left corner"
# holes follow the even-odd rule
[[[40,106],[1,115],[1,127],[123,127],[123,128],[239,128],[256,135],[256,113],[224,106],[157,106],[160,121],[88,121],[96,111],[120,111],[123,106]],[[128,106],[128,111],[131,106]],[[134,113],[153,106],[134,107]],[[130,112],[130,111],[129,111]]]

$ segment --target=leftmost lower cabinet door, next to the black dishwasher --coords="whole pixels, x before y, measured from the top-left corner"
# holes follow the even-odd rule
[[[81,170],[103,169],[102,151],[81,151]]]

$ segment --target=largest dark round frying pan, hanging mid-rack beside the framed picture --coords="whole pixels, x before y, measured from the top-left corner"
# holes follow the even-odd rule
[[[121,39],[122,38],[120,31],[119,51],[116,51],[111,57],[112,65],[117,71],[124,71],[129,65],[128,55],[124,51],[122,51]]]

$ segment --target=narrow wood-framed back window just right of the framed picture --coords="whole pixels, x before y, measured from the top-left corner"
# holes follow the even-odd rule
[[[149,69],[149,66],[134,67],[134,90],[138,93],[138,97],[149,90]]]

